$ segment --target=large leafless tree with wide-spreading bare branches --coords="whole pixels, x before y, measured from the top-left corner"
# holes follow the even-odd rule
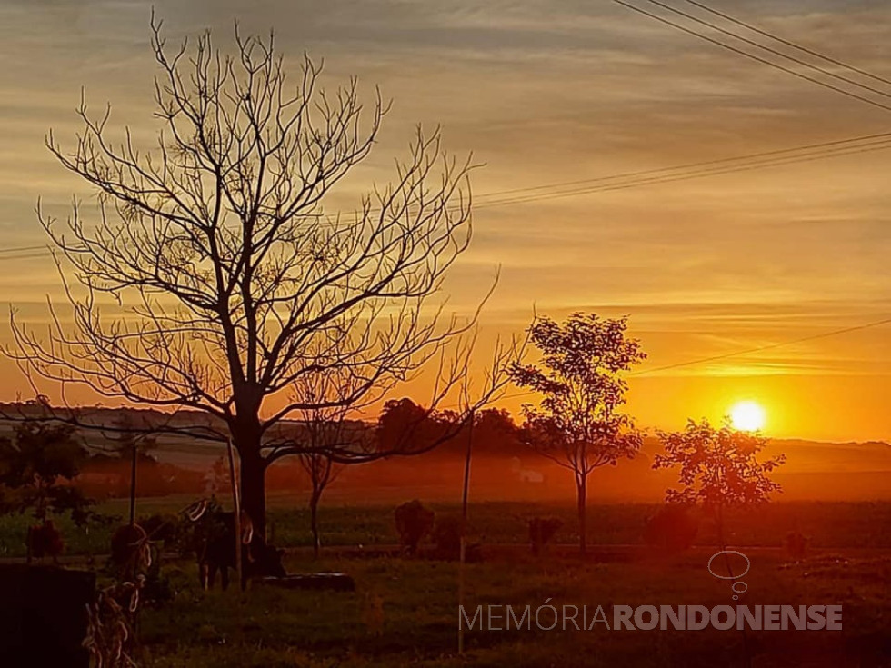
[[[63,399],[80,384],[209,414],[155,433],[231,437],[243,507],[262,535],[266,467],[306,449],[273,435],[275,425],[370,404],[436,359],[435,399],[466,374],[469,354],[445,361],[445,349],[476,314],[445,315],[438,294],[471,238],[472,165],[445,155],[438,132],[418,129],[392,184],[375,186],[355,213],[329,213],[328,196],[375,143],[387,108],[380,95],[365,109],[355,80],[325,92],[308,57],[287,85],[271,35],[244,37],[236,26],[227,55],[209,33],[170,48],[154,16],[152,31],[157,145],[140,150],[129,128],[115,140],[110,110],[91,115],[85,103],[73,150],[48,135],[61,165],[95,188],[97,216],[87,220],[75,200],[62,223],[38,204],[72,316],[69,324],[51,304],[41,336],[14,312],[5,354],[35,392],[49,380]],[[109,301],[120,315],[103,311]],[[348,394],[288,396],[333,372],[350,378]],[[90,426],[73,410],[53,418]]]

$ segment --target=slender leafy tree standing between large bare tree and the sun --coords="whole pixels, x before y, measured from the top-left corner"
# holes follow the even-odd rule
[[[572,314],[562,325],[540,318],[529,331],[541,352],[540,364],[515,364],[511,370],[517,385],[544,395],[540,408],[523,407],[523,438],[573,472],[583,554],[588,475],[633,457],[641,445],[634,422],[619,412],[627,389],[621,374],[646,357],[636,339],[626,337],[626,327],[627,318],[596,314]]]

